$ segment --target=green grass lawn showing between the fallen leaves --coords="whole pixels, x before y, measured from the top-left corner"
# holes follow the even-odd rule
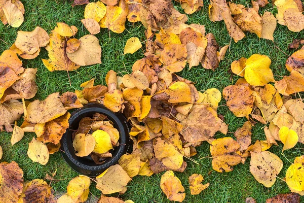
[[[21,0],[22,1],[22,0]],[[56,22],[65,22],[69,25],[75,25],[79,28],[77,38],[89,34],[81,23],[83,18],[85,6],[77,6],[72,8],[69,0],[32,0],[22,1],[25,7],[25,21],[19,28],[12,28],[4,26],[0,23],[0,53],[8,49],[16,40],[17,31],[25,30],[31,31],[36,26],[41,26],[50,32],[56,25]],[[57,3],[56,3],[57,2]],[[250,3],[240,0],[236,1],[245,6],[251,6]],[[302,1],[303,2],[303,1]],[[188,24],[199,23],[206,27],[207,32],[212,32],[220,46],[230,44],[231,38],[229,37],[223,22],[211,22],[208,18],[208,2],[204,1],[204,8],[192,15],[188,15]],[[183,12],[178,3],[174,3],[176,9]],[[272,5],[268,5],[260,10],[262,14],[265,10],[274,14],[276,9],[271,9]],[[32,60],[22,60],[23,66],[37,67],[37,85],[39,87],[36,96],[33,99],[44,99],[47,95],[60,91],[74,91],[80,89],[81,83],[95,78],[95,84],[105,84],[105,75],[109,70],[114,70],[119,75],[131,73],[133,63],[143,57],[144,49],[137,51],[135,54],[123,55],[124,45],[131,37],[138,37],[144,41],[144,27],[141,23],[126,23],[126,30],[118,35],[111,32],[111,41],[109,41],[107,29],[102,29],[96,35],[100,40],[102,46],[102,64],[81,67],[75,72],[70,72],[71,86],[69,85],[68,75],[66,72],[49,72],[43,65],[41,59],[48,58],[47,51],[43,48],[40,56]],[[206,90],[208,88],[217,88],[220,91],[228,85],[234,84],[239,78],[233,76],[230,80],[231,74],[229,72],[232,61],[240,57],[249,57],[252,54],[259,53],[268,55],[271,60],[271,69],[275,75],[275,79],[281,79],[280,76],[288,74],[285,69],[285,62],[287,55],[291,55],[293,50],[287,50],[287,46],[293,39],[304,38],[304,31],[295,33],[287,29],[286,26],[278,25],[274,33],[275,42],[269,40],[259,39],[255,34],[246,33],[246,38],[238,43],[231,43],[230,50],[227,51],[225,59],[220,62],[219,67],[213,72],[205,70],[201,65],[193,67],[191,71],[186,67],[180,76],[194,81],[198,90]],[[282,51],[280,51],[281,49]],[[285,53],[283,53],[285,52]],[[287,55],[286,55],[287,54]],[[31,100],[33,100],[31,99]],[[224,105],[225,101],[222,99],[220,105]],[[229,124],[229,131],[234,132],[237,128],[241,127],[246,121],[244,118],[235,117],[227,107],[221,106],[218,108],[218,113],[224,115],[225,122]],[[22,121],[19,121],[19,125]],[[252,130],[252,142],[264,140],[264,132],[261,129],[263,125],[256,124]],[[47,165],[43,166],[39,163],[33,163],[27,157],[28,142],[34,136],[33,133],[25,133],[22,141],[14,145],[10,144],[11,133],[0,132],[0,145],[3,147],[4,155],[2,161],[16,161],[23,169],[24,178],[26,180],[44,179],[46,174],[51,175],[57,169],[55,179],[66,179],[61,181],[52,182],[51,186],[56,193],[66,191],[67,183],[70,178],[77,176],[71,168],[64,162],[60,153],[55,153],[50,156]],[[232,133],[227,136],[233,137]],[[223,137],[223,134],[216,134],[216,138]],[[285,156],[293,162],[296,156],[303,154],[303,145],[297,144],[293,149],[285,151]],[[210,156],[209,144],[203,143],[202,146],[197,148],[198,155],[193,158],[197,160],[200,165],[191,161],[187,161],[187,168],[184,173],[175,173],[181,180],[186,190],[186,198],[184,202],[244,202],[245,198],[251,196],[256,198],[257,202],[264,202],[265,199],[277,195],[279,193],[289,192],[286,183],[277,179],[276,183],[271,188],[265,188],[259,184],[249,172],[249,160],[245,164],[235,166],[233,172],[230,173],[217,173],[212,170],[211,159],[204,158],[199,160],[200,157]],[[278,175],[280,178],[285,177],[285,172],[290,165],[289,161],[281,154],[282,145],[273,146],[270,151],[277,154],[284,162],[284,167]],[[191,195],[188,187],[188,177],[192,174],[202,174],[205,178],[204,183],[209,182],[210,186],[199,195]],[[153,175],[151,177],[135,177],[128,185],[128,190],[121,198],[127,200],[132,199],[134,202],[169,202],[164,193],[160,189],[160,178],[162,174]],[[92,184],[91,192],[99,197],[101,192]],[[119,196],[114,194],[113,196]],[[304,201],[304,198],[301,197]]]

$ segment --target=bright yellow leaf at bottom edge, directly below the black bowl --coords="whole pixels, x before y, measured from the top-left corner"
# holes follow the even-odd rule
[[[74,202],[85,202],[90,192],[90,184],[91,180],[86,176],[75,177],[66,187],[67,195],[70,196]]]

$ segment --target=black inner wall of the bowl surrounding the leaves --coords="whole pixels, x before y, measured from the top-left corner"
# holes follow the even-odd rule
[[[94,162],[94,160],[92,159],[92,157],[90,155],[86,156],[86,157],[79,157],[75,154],[75,150],[73,148],[73,141],[72,141],[72,133],[74,130],[77,130],[78,127],[79,127],[79,122],[81,119],[85,118],[85,117],[90,117],[92,118],[93,115],[95,113],[101,113],[101,112],[98,112],[98,111],[91,111],[91,112],[84,112],[84,113],[81,113],[81,114],[75,114],[73,115],[71,118],[70,118],[70,125],[69,125],[69,128],[67,130],[67,133],[66,133],[66,140],[67,140],[67,146],[68,146],[68,150],[70,152],[70,154],[73,156],[74,159],[78,160],[79,162],[85,164],[85,165],[89,165],[89,166],[99,166],[99,165],[103,165],[107,162],[110,162],[119,152],[119,149],[123,146],[123,140],[125,141],[126,139],[122,139],[123,137],[126,137],[125,134],[122,133],[121,129],[119,128],[119,124],[118,122],[113,119],[111,116],[107,115],[106,113],[101,113],[103,115],[106,115],[107,118],[113,122],[113,126],[118,129],[119,131],[119,134],[120,134],[120,137],[119,137],[119,144],[117,147],[115,147],[115,149],[113,150],[110,150],[111,154],[112,154],[112,157],[111,158],[107,158],[102,164],[96,164]]]

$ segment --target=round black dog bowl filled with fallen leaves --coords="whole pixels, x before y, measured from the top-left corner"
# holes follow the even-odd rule
[[[72,133],[78,129],[80,120],[85,117],[92,118],[95,113],[106,115],[107,118],[113,122],[113,126],[118,129],[120,134],[118,141],[120,145],[113,150],[112,157],[107,158],[102,164],[96,164],[90,155],[86,157],[76,156],[72,144]],[[132,152],[133,142],[129,137],[129,131],[130,125],[123,114],[113,113],[101,104],[88,104],[71,114],[69,127],[60,141],[61,154],[74,171],[86,176],[96,177],[109,166],[117,164],[123,154]]]

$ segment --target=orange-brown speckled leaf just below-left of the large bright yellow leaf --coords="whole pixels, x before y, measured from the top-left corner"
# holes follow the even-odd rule
[[[248,116],[253,108],[253,91],[243,85],[230,85],[223,89],[223,97],[229,110],[237,117]]]

